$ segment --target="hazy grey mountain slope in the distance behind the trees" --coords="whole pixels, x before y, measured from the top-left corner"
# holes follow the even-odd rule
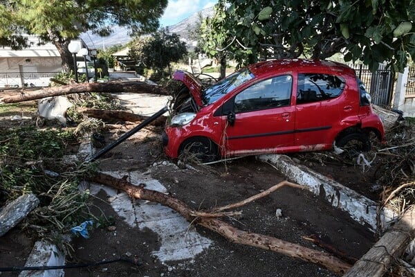
[[[212,17],[214,9],[206,8],[199,12],[196,12],[194,15],[183,19],[182,21],[174,24],[172,26],[167,26],[170,33],[176,33],[180,35],[187,44],[191,45],[192,42],[189,39],[189,30],[192,30],[198,26],[201,18],[205,19],[206,17]],[[101,37],[100,35],[93,34],[91,31],[82,33],[80,38],[85,42],[89,48],[107,48],[116,44],[127,44],[131,41],[132,37],[129,34],[129,30],[125,27],[113,26],[113,32],[107,37]]]

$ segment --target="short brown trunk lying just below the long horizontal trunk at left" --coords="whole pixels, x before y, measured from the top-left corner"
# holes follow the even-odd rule
[[[86,116],[93,118],[101,118],[104,120],[122,120],[129,122],[141,122],[149,118],[149,116],[142,116],[140,114],[133,114],[129,111],[109,111],[105,109],[91,109],[82,107],[77,109],[80,114],[85,114]],[[154,120],[150,125],[154,126],[163,126],[166,123],[166,116],[160,116]]]

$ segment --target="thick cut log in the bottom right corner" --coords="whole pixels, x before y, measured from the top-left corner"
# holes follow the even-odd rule
[[[383,276],[392,262],[403,255],[414,236],[415,206],[412,206],[343,277]]]

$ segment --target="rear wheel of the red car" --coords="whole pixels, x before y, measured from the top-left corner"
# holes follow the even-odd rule
[[[369,136],[363,132],[344,134],[335,142],[335,145],[344,150],[342,154],[346,154],[349,157],[356,157],[362,152],[371,150]]]

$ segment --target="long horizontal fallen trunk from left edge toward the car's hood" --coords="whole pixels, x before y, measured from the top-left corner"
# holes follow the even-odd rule
[[[72,93],[102,92],[102,93],[151,93],[169,95],[169,91],[163,87],[146,84],[145,82],[82,82],[79,84],[68,84],[62,87],[47,87],[37,91],[20,91],[0,98],[2,103],[16,103],[28,100],[36,100],[50,96],[62,96]]]

